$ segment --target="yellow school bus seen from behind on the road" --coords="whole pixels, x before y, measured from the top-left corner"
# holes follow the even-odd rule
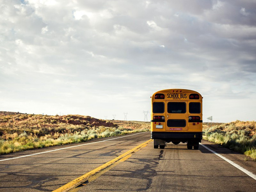
[[[200,93],[188,89],[165,89],[151,97],[151,139],[154,148],[165,143],[187,143],[198,149],[203,137],[202,101]]]

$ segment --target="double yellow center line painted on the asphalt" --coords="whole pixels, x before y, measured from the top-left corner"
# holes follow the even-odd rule
[[[148,140],[148,141],[146,141],[146,142],[144,142],[144,143],[138,145],[137,147],[135,147],[135,148],[133,148],[133,149],[131,149],[131,150],[129,150],[129,151],[123,153],[122,155],[120,155],[120,156],[118,156],[118,157],[112,159],[111,161],[109,161],[109,162],[107,162],[107,163],[101,165],[100,167],[97,167],[96,169],[93,169],[92,171],[90,171],[90,172],[88,172],[88,173],[85,173],[84,175],[82,175],[82,176],[76,178],[75,180],[70,181],[70,182],[67,183],[66,185],[63,185],[62,187],[60,187],[60,188],[54,190],[54,192],[68,191],[68,190],[70,190],[70,189],[72,189],[72,188],[75,188],[75,187],[77,187],[78,185],[84,183],[84,182],[87,181],[87,180],[88,180],[88,181],[92,181],[92,180],[96,179],[96,178],[99,177],[101,174],[103,174],[104,172],[108,171],[111,167],[113,167],[113,166],[111,166],[111,165],[125,161],[126,159],[128,159],[128,158],[132,155],[132,152],[136,152],[136,151],[138,151],[140,148],[146,147],[146,145],[147,145],[149,142],[151,142],[151,141],[152,141],[152,139],[150,139],[150,140]],[[111,167],[110,167],[110,166],[111,166]],[[109,169],[106,169],[106,168],[109,168]],[[104,169],[106,169],[106,170],[104,171]],[[104,171],[104,172],[103,172],[103,171]],[[96,174],[97,174],[97,176],[95,176]],[[95,177],[93,177],[93,176],[95,176]],[[92,177],[92,178],[90,178],[90,177]]]

